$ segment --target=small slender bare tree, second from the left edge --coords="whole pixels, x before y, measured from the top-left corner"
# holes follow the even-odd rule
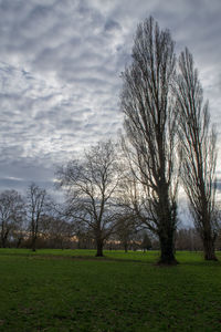
[[[46,199],[45,189],[40,188],[34,183],[29,186],[27,194],[27,211],[31,231],[31,248],[33,251],[36,250],[36,239],[39,237],[41,218],[45,214]]]

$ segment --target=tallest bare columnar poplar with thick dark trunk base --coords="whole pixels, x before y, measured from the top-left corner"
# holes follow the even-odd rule
[[[133,62],[123,73],[122,111],[133,170],[146,193],[146,225],[160,240],[159,263],[176,263],[176,108],[171,95],[176,56],[168,30],[150,17],[137,28]]]

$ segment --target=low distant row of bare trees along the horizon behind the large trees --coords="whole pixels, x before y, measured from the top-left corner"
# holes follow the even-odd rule
[[[35,184],[28,188],[27,197],[15,190],[0,193],[0,247],[96,249],[96,238],[90,228],[82,227],[76,218],[70,218],[65,206],[55,205],[45,189]],[[203,250],[196,228],[180,228],[175,236],[176,250]],[[104,241],[107,250],[159,250],[158,238],[146,228],[122,215],[116,220],[115,231]],[[221,250],[221,231],[218,232],[215,249]]]

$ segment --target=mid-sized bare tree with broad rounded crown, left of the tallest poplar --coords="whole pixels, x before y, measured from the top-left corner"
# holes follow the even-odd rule
[[[110,142],[99,142],[57,172],[59,185],[66,190],[67,216],[76,229],[92,232],[96,256],[116,226],[115,191],[119,183],[117,154]]]

